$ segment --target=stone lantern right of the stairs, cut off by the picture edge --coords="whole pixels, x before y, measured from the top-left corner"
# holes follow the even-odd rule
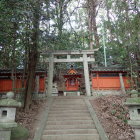
[[[128,106],[130,114],[128,124],[135,130],[135,139],[140,140],[140,97],[128,98],[125,105]]]

